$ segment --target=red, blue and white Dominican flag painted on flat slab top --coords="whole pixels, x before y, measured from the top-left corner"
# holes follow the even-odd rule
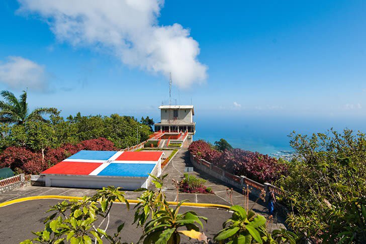
[[[82,150],[41,174],[148,177],[162,155],[162,152]]]

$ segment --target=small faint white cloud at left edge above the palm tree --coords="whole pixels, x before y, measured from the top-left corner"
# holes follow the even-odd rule
[[[16,89],[45,90],[47,88],[44,67],[22,57],[8,57],[0,62],[0,82]]]

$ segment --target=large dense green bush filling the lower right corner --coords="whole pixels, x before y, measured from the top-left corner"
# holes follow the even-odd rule
[[[287,222],[311,241],[366,242],[366,137],[344,130],[292,133],[297,158],[279,184],[293,212]]]

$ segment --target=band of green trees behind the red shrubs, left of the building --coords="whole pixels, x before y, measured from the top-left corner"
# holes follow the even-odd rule
[[[77,144],[84,140],[106,138],[117,148],[136,145],[137,127],[133,117],[112,114],[108,116],[69,116],[64,120],[59,112],[50,121],[26,121],[22,125],[0,124],[2,148],[27,147],[34,152],[57,148],[64,144]],[[139,128],[139,140],[147,140],[151,134],[148,126]]]

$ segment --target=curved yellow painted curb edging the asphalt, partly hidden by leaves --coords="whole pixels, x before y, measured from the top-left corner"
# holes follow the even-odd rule
[[[40,199],[61,199],[61,200],[82,200],[82,197],[75,197],[75,196],[58,196],[58,195],[45,195],[45,196],[32,196],[32,197],[23,197],[18,198],[10,201],[6,201],[0,203],[0,207],[5,207],[14,203],[25,202],[25,201],[32,201],[32,200],[40,200]],[[128,203],[139,203],[139,200],[135,199],[127,199]],[[117,201],[119,202],[119,201]],[[177,202],[168,202],[169,205],[177,205]],[[211,207],[211,208],[222,208],[222,209],[229,209],[230,206],[222,205],[222,204],[213,204],[213,203],[194,203],[194,202],[184,202],[181,204],[182,206],[188,207]]]

